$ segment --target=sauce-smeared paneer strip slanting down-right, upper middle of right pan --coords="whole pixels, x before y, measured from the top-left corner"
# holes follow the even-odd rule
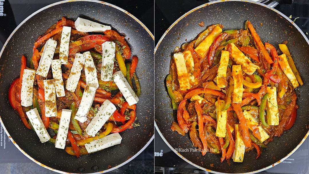
[[[252,63],[233,43],[231,43],[231,58],[236,64],[241,65],[243,72],[248,75],[252,75],[256,69],[260,69],[259,66]]]

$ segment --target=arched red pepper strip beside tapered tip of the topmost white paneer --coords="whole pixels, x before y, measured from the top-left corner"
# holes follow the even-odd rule
[[[125,41],[124,36],[120,36],[116,31],[114,30],[106,30],[104,31],[104,34],[110,38],[110,40],[118,40],[120,42],[120,45],[122,46],[123,49],[123,57],[125,59],[129,59],[131,57],[131,50],[129,48],[129,45]]]

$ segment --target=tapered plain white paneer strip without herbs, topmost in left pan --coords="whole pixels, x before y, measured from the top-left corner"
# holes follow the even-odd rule
[[[79,32],[104,32],[105,30],[112,29],[111,26],[103,25],[79,17],[75,21],[75,28]]]

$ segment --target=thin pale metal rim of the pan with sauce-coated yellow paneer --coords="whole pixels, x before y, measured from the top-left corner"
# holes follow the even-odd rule
[[[303,31],[290,19],[288,18],[286,15],[284,15],[283,13],[281,13],[280,11],[277,11],[276,9],[272,8],[272,7],[269,7],[265,4],[262,4],[262,3],[259,3],[259,2],[253,2],[253,1],[247,1],[247,0],[219,0],[219,1],[214,1],[214,2],[209,2],[209,3],[206,3],[206,4],[203,4],[201,6],[197,6],[196,8],[188,11],[187,13],[185,13],[184,15],[182,15],[180,18],[178,18],[173,24],[171,24],[171,26],[164,32],[163,36],[160,38],[160,40],[158,41],[157,45],[155,46],[155,53],[157,51],[157,49],[159,48],[159,45],[161,43],[161,41],[164,39],[164,37],[167,35],[167,33],[171,30],[171,28],[173,28],[181,19],[183,19],[184,17],[186,17],[188,14],[200,9],[200,8],[203,8],[205,6],[209,6],[211,4],[215,4],[215,3],[220,3],[220,2],[226,2],[226,1],[240,1],[240,2],[247,2],[247,3],[254,3],[254,4],[257,4],[257,5],[260,5],[260,6],[263,6],[263,7],[266,7],[272,11],[275,11],[277,14],[281,15],[282,17],[284,17],[285,19],[287,19],[295,28],[297,28],[297,30],[300,32],[300,34],[305,38],[305,40],[307,41],[307,44],[309,45],[309,40],[308,38],[305,36],[305,34],[303,33]],[[199,169],[202,169],[202,170],[205,170],[207,172],[211,172],[211,173],[216,173],[216,174],[224,174],[222,172],[216,172],[216,171],[212,171],[212,170],[209,170],[209,169],[206,169],[206,168],[203,168],[191,161],[189,161],[188,159],[184,158],[182,155],[180,155],[180,153],[176,152],[176,150],[167,142],[167,140],[164,138],[163,134],[161,133],[161,131],[159,130],[159,127],[157,125],[157,123],[155,122],[155,128],[157,129],[159,135],[161,136],[161,138],[163,139],[163,141],[167,144],[167,146],[176,154],[178,155],[181,159],[183,159],[184,161],[186,161],[187,163],[193,165],[194,167],[196,168],[199,168]],[[286,158],[288,158],[290,155],[292,155],[298,148],[299,146],[301,146],[303,144],[303,142],[306,140],[306,138],[308,137],[309,135],[309,130],[307,132],[307,134],[305,135],[305,137],[302,139],[302,141],[288,154],[286,155],[284,158],[280,159],[279,161],[277,161],[276,163],[272,164],[272,165],[269,165],[268,167],[265,167],[265,168],[262,168],[260,170],[256,170],[256,171],[252,171],[252,172],[246,172],[245,174],[253,174],[253,173],[258,173],[258,172],[262,172],[264,170],[267,170],[269,168],[272,168],[274,166],[276,166],[277,164],[281,163],[281,161],[284,161]]]

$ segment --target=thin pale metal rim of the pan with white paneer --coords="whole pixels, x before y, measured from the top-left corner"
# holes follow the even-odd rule
[[[108,5],[108,6],[111,6],[113,8],[116,8],[122,12],[124,12],[125,14],[129,15],[131,18],[133,18],[134,20],[136,20],[148,33],[149,35],[151,36],[151,38],[153,40],[155,40],[155,37],[153,36],[153,34],[149,31],[149,29],[140,21],[138,20],[135,16],[133,16],[132,14],[130,14],[128,11],[125,11],[124,9],[118,7],[118,6],[115,6],[115,5],[112,5],[110,3],[107,3],[107,2],[102,2],[102,1],[98,1],[98,0],[65,0],[65,1],[60,1],[60,2],[56,2],[56,3],[53,3],[53,4],[50,4],[48,6],[45,6],[41,9],[39,9],[38,11],[32,13],[30,16],[28,16],[26,19],[24,19],[14,30],[13,32],[11,33],[11,35],[7,38],[5,44],[3,45],[1,51],[0,51],[0,57],[2,56],[2,53],[4,51],[4,48],[6,47],[7,43],[9,42],[9,40],[11,39],[11,37],[14,35],[14,33],[19,29],[20,26],[23,25],[23,23],[27,22],[28,19],[30,19],[32,16],[36,15],[37,13],[39,13],[40,11],[43,11],[43,10],[46,10],[48,9],[49,7],[52,7],[52,6],[55,6],[55,5],[58,5],[58,4],[63,4],[63,3],[67,3],[67,2],[77,2],[77,1],[86,1],[86,2],[96,2],[96,3],[101,3],[101,4],[105,4],[105,5]],[[31,159],[33,162],[39,164],[40,166],[44,167],[44,168],[47,168],[49,170],[52,170],[54,172],[58,172],[58,173],[64,173],[64,174],[73,174],[73,173],[70,173],[70,172],[63,172],[63,171],[60,171],[60,170],[56,170],[54,168],[51,168],[51,167],[48,167],[40,162],[38,162],[37,160],[35,160],[34,158],[32,158],[30,155],[28,155],[25,151],[23,151],[23,149],[21,149],[17,143],[13,140],[13,138],[10,136],[10,134],[8,133],[8,131],[6,130],[6,127],[4,126],[3,122],[2,122],[2,119],[1,119],[1,116],[0,116],[0,122],[1,122],[1,125],[4,129],[4,131],[6,132],[7,136],[10,138],[10,140],[13,142],[13,144],[17,147],[17,149],[19,151],[21,151],[25,156],[27,156],[29,159]],[[96,173],[105,173],[105,172],[110,172],[112,170],[115,170],[117,168],[120,168],[121,166],[125,165],[126,163],[129,163],[132,159],[134,159],[135,157],[137,157],[140,153],[142,153],[142,151],[145,150],[145,148],[150,144],[150,142],[154,139],[155,135],[153,135],[150,140],[146,143],[146,145],[140,150],[138,151],[135,155],[133,155],[130,159],[126,160],[125,162],[113,167],[113,168],[110,168],[110,169],[107,169],[107,170],[104,170],[104,171],[100,171],[100,172],[95,172],[95,173],[91,173],[91,174],[96,174]]]

